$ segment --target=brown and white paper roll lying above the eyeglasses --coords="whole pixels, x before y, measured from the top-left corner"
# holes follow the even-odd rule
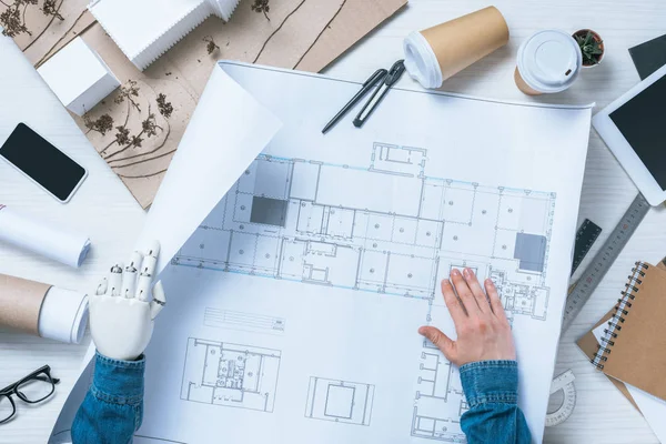
[[[78,344],[88,324],[88,295],[0,274],[0,325]]]

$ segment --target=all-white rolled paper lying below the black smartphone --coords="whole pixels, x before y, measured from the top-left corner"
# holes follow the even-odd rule
[[[65,265],[79,268],[88,251],[87,235],[38,221],[0,204],[0,241],[30,250]]]

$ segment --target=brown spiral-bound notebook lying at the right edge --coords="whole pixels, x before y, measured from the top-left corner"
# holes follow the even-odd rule
[[[666,335],[660,333],[666,324],[666,270],[638,263],[626,290],[613,313],[612,334],[593,361],[606,375],[666,400]],[[586,343],[582,349],[589,347],[586,337],[579,341]]]

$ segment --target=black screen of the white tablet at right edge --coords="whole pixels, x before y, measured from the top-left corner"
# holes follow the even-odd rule
[[[610,120],[666,191],[666,75],[613,111]]]

